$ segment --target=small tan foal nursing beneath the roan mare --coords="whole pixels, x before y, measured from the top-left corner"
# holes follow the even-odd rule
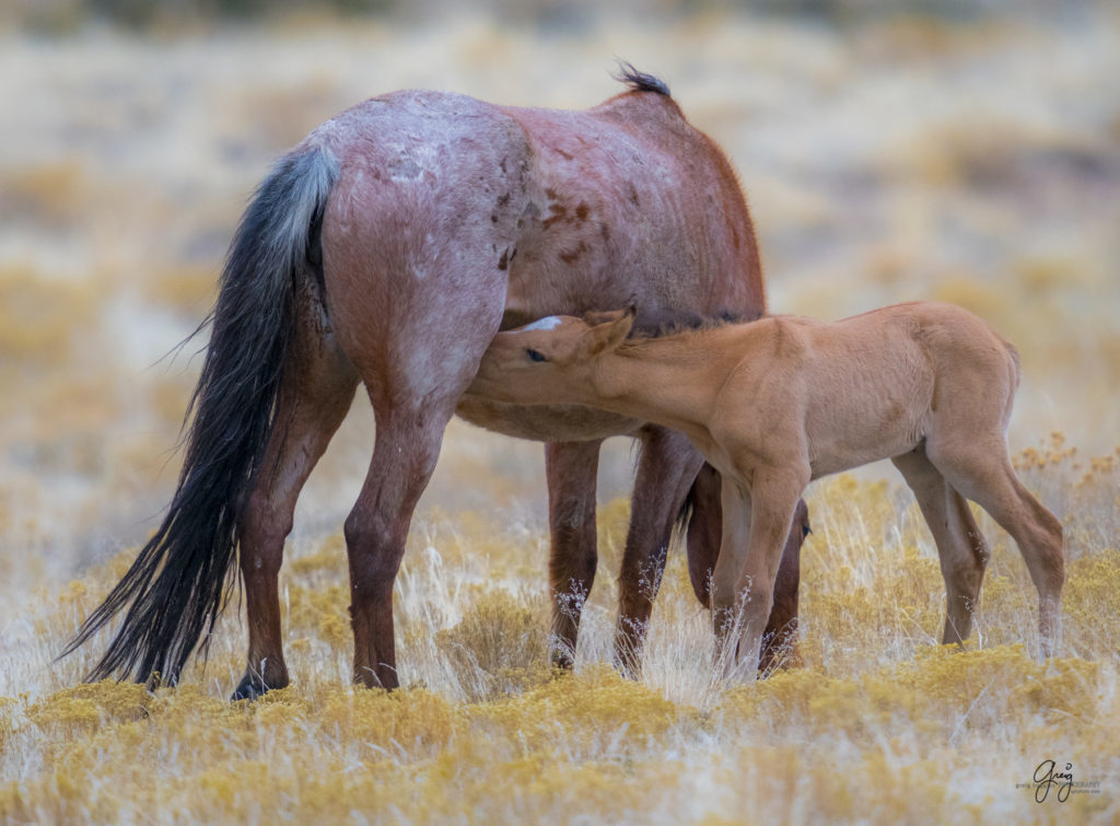
[[[724,477],[711,604],[717,635],[736,643],[729,672],[755,672],[805,485],[880,458],[902,471],[933,532],[948,595],[943,641],[971,632],[989,556],[971,499],[1018,544],[1038,590],[1042,651],[1054,653],[1062,526],[1011,468],[1019,359],[984,322],[916,301],[831,324],[776,316],[627,341],[633,321],[631,307],[500,333],[468,392],[587,405],[692,440]]]

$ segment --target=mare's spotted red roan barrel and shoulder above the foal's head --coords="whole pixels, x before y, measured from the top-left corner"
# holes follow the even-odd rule
[[[514,109],[531,149],[508,304],[543,281],[580,313],[642,297],[644,314],[764,307],[754,229],[722,152],[669,96],[627,92],[587,111]]]

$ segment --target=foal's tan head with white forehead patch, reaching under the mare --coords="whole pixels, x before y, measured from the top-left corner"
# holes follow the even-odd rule
[[[617,347],[634,325],[634,307],[549,316],[498,333],[468,392],[522,405],[578,403],[592,362]]]

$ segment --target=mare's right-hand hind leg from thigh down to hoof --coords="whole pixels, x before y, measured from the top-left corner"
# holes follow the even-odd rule
[[[464,256],[469,252],[460,248]],[[344,276],[368,284],[351,293],[353,280]],[[394,270],[337,273],[339,297],[332,310],[339,341],[365,383],[376,421],[370,470],[345,523],[354,679],[370,687],[399,685],[393,582],[444,430],[497,331],[504,296],[500,276],[496,268],[448,269],[427,280]],[[327,287],[329,295],[329,279]],[[389,301],[377,290],[390,288],[396,290],[389,295],[398,306],[409,310],[372,324],[371,307]]]

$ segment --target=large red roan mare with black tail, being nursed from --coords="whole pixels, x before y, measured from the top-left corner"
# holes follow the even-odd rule
[[[396,92],[327,121],[276,165],[230,249],[168,513],[67,648],[125,611],[91,678],[177,680],[213,631],[237,558],[249,666],[234,697],[288,684],[283,542],[360,382],[376,439],[345,522],[355,679],[398,685],[393,581],[456,411],[548,443],[560,665],[595,575],[599,444],[641,439],[616,634],[623,665],[637,662],[700,455],[680,434],[616,415],[463,399],[498,328],[530,318],[632,296],[648,324],[765,310],[754,229],[727,159],[659,80],[632,67],[620,80],[628,91],[581,112]],[[713,490],[708,479],[693,496],[694,578],[718,553],[718,527],[704,529],[720,520]]]

